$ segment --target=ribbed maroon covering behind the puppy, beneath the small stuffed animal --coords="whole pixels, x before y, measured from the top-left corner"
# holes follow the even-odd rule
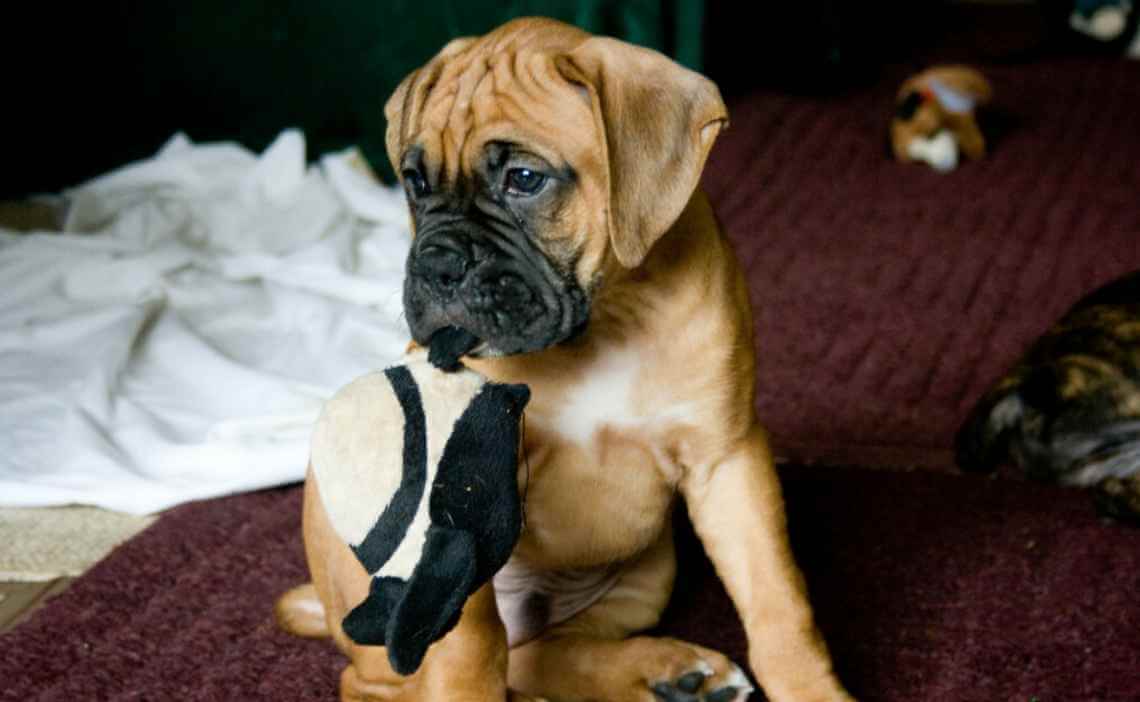
[[[705,186],[751,281],[781,452],[948,466],[988,383],[1082,293],[1140,268],[1140,62],[986,73],[1005,133],[948,176],[886,158],[906,71],[730,106]]]

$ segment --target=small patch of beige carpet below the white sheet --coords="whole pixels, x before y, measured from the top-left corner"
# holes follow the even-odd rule
[[[0,509],[0,581],[80,576],[154,519],[97,507]]]

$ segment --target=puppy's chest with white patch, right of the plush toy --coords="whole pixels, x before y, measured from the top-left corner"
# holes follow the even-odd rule
[[[619,561],[666,523],[682,467],[670,448],[684,405],[646,392],[635,354],[616,352],[527,410],[522,552],[553,565]],[[654,401],[656,400],[656,401]]]

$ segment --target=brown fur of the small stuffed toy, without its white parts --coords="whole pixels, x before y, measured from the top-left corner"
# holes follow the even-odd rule
[[[928,84],[931,80],[969,96],[976,106],[990,101],[993,89],[984,75],[968,66],[935,66],[911,76],[898,89],[898,99],[910,92],[929,95]],[[898,161],[911,161],[907,149],[912,140],[920,137],[931,137],[940,130],[947,130],[958,141],[958,147],[967,158],[980,158],[986,154],[986,140],[978,128],[976,111],[959,114],[944,109],[935,99],[925,99],[914,113],[913,119],[891,120],[890,147]]]

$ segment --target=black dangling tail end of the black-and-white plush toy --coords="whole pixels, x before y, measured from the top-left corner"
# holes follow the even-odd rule
[[[344,632],[360,645],[386,646],[392,669],[412,675],[427,647],[458,623],[474,581],[474,537],[433,525],[412,579],[374,579],[368,597],[344,618]]]

